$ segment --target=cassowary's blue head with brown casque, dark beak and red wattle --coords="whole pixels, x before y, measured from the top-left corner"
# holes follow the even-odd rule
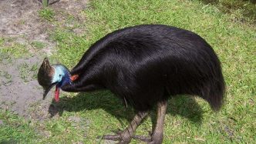
[[[64,65],[50,65],[49,60],[45,58],[38,73],[39,85],[44,89],[43,99],[47,93],[56,85],[55,99],[59,102],[59,89],[62,85],[70,83],[69,69]]]

